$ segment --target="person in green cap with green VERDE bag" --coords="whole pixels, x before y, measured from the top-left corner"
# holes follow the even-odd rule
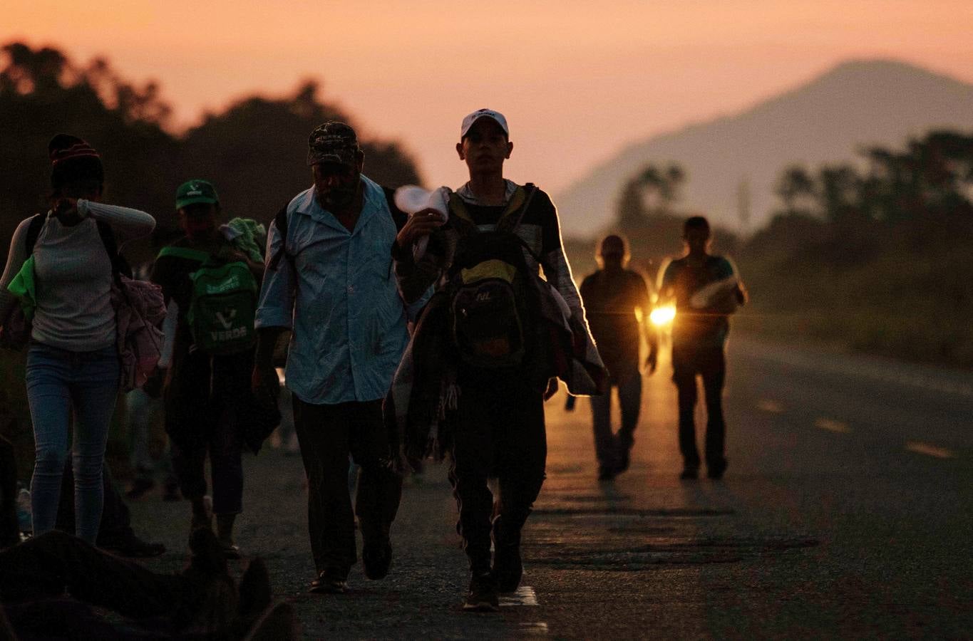
[[[183,496],[192,503],[190,531],[212,528],[224,552],[239,557],[234,519],[242,509],[240,410],[250,394],[253,317],[264,266],[251,259],[219,226],[220,199],[205,180],[176,191],[185,235],[163,247],[151,280],[177,314],[172,358],[163,388],[165,431]],[[174,304],[173,304],[174,303]],[[209,455],[212,515],[205,501]]]

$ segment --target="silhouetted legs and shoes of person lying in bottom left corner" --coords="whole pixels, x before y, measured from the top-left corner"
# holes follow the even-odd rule
[[[0,552],[0,602],[13,630],[29,638],[84,629],[85,638],[100,639],[239,639],[268,620],[272,638],[296,638],[293,614],[271,608],[263,560],[249,564],[237,588],[212,531],[194,532],[190,550],[185,570],[160,574],[54,530]],[[117,612],[126,623],[86,606]]]

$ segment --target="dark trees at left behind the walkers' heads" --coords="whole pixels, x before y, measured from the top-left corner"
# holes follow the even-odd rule
[[[323,100],[306,81],[290,95],[252,95],[183,132],[158,83],[126,80],[104,58],[71,60],[52,48],[12,42],[0,48],[0,243],[18,222],[48,205],[47,145],[58,132],[81,136],[101,154],[105,198],[159,220],[156,243],[175,229],[176,187],[211,180],[230,216],[268,222],[310,185],[305,166],[310,131],[327,120],[354,118]],[[414,160],[393,141],[362,137],[366,173],[383,185],[421,182]],[[149,248],[143,253],[150,256]]]

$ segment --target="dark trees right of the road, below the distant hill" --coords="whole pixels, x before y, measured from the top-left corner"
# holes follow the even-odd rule
[[[647,165],[616,225],[643,265],[678,254],[677,164]],[[779,207],[745,240],[717,231],[753,297],[738,324],[872,353],[973,367],[973,134],[933,130],[853,162],[782,169]],[[702,212],[705,213],[705,212]]]

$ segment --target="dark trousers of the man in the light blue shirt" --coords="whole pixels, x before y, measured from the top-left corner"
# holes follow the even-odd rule
[[[313,405],[294,397],[294,429],[307,474],[307,528],[314,567],[346,576],[358,560],[348,493],[348,455],[361,466],[355,493],[366,550],[380,548],[402,498],[402,478],[388,465],[381,400]]]

